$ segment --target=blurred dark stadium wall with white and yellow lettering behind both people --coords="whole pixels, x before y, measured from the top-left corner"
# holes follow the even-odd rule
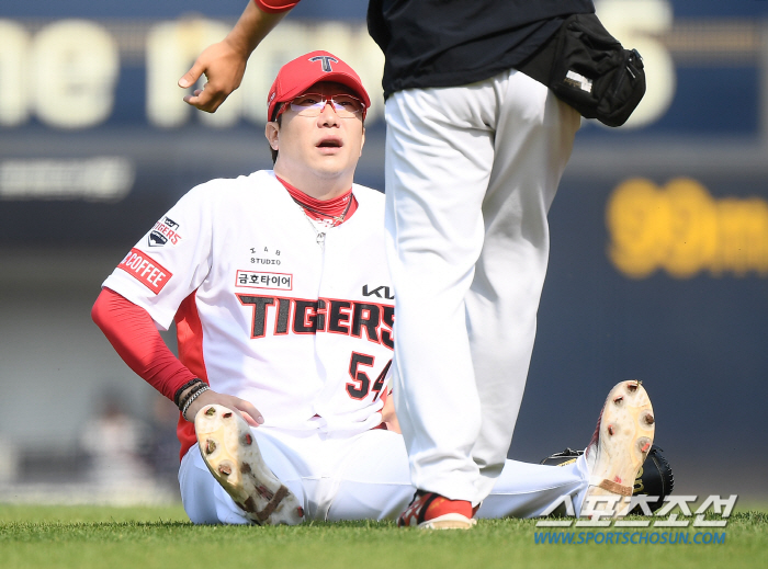
[[[182,102],[177,80],[245,4],[0,0],[0,502],[178,499],[178,411],[90,308],[193,185],[271,167],[282,64],[327,49],[360,73],[374,104],[357,181],[384,186],[383,56],[363,0],[304,0],[215,115]],[[648,89],[623,127],[577,135],[510,456],[583,448],[608,390],[636,378],[676,493],[765,502],[768,2],[597,5]]]

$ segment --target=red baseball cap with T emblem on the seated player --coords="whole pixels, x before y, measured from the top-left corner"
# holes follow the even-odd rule
[[[278,103],[295,99],[318,81],[347,86],[363,100],[365,109],[371,106],[371,99],[351,67],[328,52],[312,52],[289,61],[278,71],[267,96],[267,120],[272,120]]]

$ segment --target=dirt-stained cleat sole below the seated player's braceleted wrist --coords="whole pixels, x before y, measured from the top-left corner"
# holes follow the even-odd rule
[[[194,430],[208,470],[246,517],[259,525],[304,521],[304,509],[264,464],[245,419],[210,405],[197,412]]]

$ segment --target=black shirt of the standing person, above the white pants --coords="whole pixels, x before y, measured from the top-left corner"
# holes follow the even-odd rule
[[[592,0],[370,0],[368,29],[384,52],[384,96],[482,81],[526,60]]]

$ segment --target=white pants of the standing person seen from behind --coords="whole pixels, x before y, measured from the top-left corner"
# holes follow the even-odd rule
[[[505,465],[579,115],[516,70],[386,102],[395,408],[413,483],[474,504]]]

